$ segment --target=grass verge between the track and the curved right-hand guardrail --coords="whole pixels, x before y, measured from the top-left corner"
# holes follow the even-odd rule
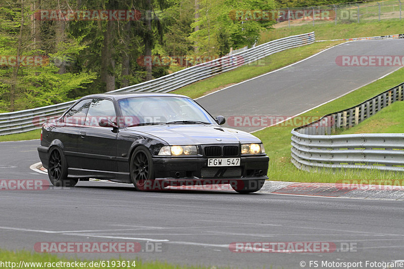
[[[355,106],[389,88],[402,83],[404,78],[404,68],[390,74],[389,76],[349,93],[337,100],[322,105],[300,116],[321,117],[325,114],[339,111]],[[388,109],[388,108],[385,108]],[[390,108],[390,109],[394,109]],[[399,112],[397,117],[401,116]],[[376,117],[377,114],[374,116]],[[402,116],[401,116],[402,117]],[[282,124],[281,124],[282,125]],[[287,125],[287,124],[286,124]],[[325,182],[335,183],[340,180],[391,180],[404,179],[403,173],[368,171],[368,170],[319,170],[316,172],[306,172],[298,170],[290,162],[290,138],[293,127],[291,126],[272,126],[254,133],[260,138],[265,146],[266,153],[270,157],[268,177],[270,180],[294,181],[294,182]],[[403,132],[402,129],[400,132]],[[383,183],[381,183],[383,184]]]

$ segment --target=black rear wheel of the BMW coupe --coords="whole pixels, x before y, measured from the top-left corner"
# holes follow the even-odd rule
[[[73,187],[78,179],[67,178],[67,161],[59,147],[53,147],[49,151],[47,175],[52,185],[57,187]]]

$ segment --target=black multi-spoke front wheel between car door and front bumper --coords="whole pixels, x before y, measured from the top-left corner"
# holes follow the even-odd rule
[[[130,158],[130,179],[136,190],[158,190],[155,183],[153,159],[146,147],[137,147]]]

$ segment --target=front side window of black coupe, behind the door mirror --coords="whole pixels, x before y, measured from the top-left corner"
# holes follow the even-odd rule
[[[99,126],[98,122],[100,119],[111,119],[113,122],[117,121],[114,103],[107,99],[94,98],[88,109],[84,125]]]

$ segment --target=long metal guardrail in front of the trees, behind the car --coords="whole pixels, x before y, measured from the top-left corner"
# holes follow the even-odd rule
[[[315,33],[289,36],[273,40],[253,48],[227,55],[209,62],[180,70],[170,75],[128,86],[111,92],[159,92],[167,93],[198,80],[203,80],[254,62],[275,52],[314,43]],[[0,113],[0,136],[39,129],[44,119],[57,117],[77,100],[56,105],[9,113]]]

